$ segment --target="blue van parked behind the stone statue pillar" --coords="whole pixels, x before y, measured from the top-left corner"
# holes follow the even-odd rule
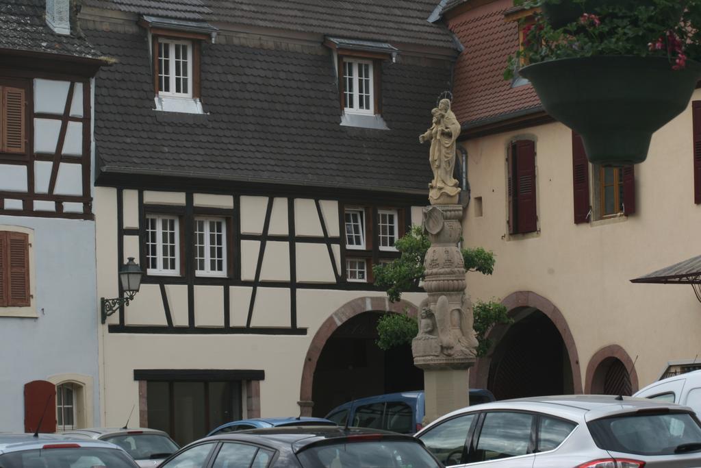
[[[349,426],[414,434],[421,430],[426,414],[424,401],[423,391],[367,396],[336,406],[329,411],[326,419],[345,425],[350,417]],[[489,401],[494,401],[494,395],[489,390],[470,389],[470,405]]]

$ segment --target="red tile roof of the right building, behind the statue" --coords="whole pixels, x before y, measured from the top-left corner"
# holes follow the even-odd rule
[[[517,22],[504,19],[510,7],[511,0],[496,0],[447,19],[465,46],[455,66],[452,105],[463,124],[540,107],[533,86],[513,88],[502,76],[519,46]]]

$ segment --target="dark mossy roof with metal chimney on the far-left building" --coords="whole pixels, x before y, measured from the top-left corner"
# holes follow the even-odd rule
[[[55,34],[44,20],[46,0],[2,0],[0,2],[0,49],[100,58],[71,25],[71,34]]]

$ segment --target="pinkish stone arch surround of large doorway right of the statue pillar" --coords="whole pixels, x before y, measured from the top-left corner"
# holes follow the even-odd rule
[[[509,311],[509,316],[514,317],[522,312],[524,309],[532,308],[543,312],[547,316],[554,326],[559,330],[562,336],[562,341],[567,349],[567,354],[569,355],[570,366],[572,368],[572,380],[574,393],[583,393],[582,386],[582,370],[579,364],[579,355],[577,353],[577,347],[574,342],[574,337],[567,324],[567,321],[560,312],[560,310],[545,297],[533,293],[533,291],[519,291],[517,293],[512,293],[501,301],[502,305],[506,307]],[[506,330],[508,330],[508,325],[496,325],[489,333],[487,337],[494,342],[498,342],[501,337],[504,336]],[[491,350],[494,352],[494,349]],[[472,368],[470,373],[470,387],[471,388],[486,388],[487,380],[489,379],[489,366],[491,366],[491,354],[478,358],[475,361],[475,367]]]

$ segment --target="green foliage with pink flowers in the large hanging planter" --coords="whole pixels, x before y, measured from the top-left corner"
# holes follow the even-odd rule
[[[516,0],[515,4],[533,8],[562,1]],[[585,0],[573,3],[580,4],[582,15],[560,29],[553,29],[540,13],[534,15],[533,24],[522,20],[522,48],[508,58],[505,79],[514,77],[520,62],[559,58],[659,56],[668,58],[674,69],[685,67],[687,58],[701,59],[701,0],[684,0],[683,12],[679,0],[653,0],[652,6],[634,8],[609,4],[597,9],[597,14],[587,12]]]

